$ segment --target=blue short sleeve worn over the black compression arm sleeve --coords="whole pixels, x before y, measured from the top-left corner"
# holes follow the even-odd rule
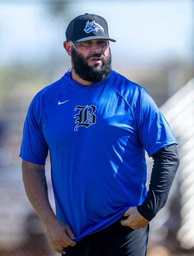
[[[162,147],[178,144],[168,122],[144,88],[138,103],[137,125],[138,136],[149,157]]]

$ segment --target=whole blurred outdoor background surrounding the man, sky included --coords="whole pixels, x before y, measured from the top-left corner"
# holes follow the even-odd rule
[[[29,104],[70,68],[66,27],[84,13],[107,20],[113,69],[149,91],[179,143],[180,167],[150,223],[147,255],[194,255],[194,1],[0,0],[0,256],[59,255],[27,200],[18,155]],[[147,185],[152,163],[147,157]],[[49,156],[46,175],[54,209]]]

